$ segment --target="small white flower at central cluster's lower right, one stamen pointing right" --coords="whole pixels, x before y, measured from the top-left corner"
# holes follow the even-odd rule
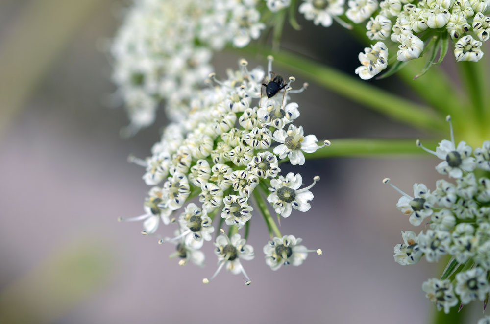
[[[274,237],[264,246],[266,255],[266,264],[271,270],[278,270],[283,264],[292,264],[300,266],[306,260],[309,252],[316,252],[321,255],[321,250],[308,250],[301,243],[301,238],[295,238],[293,235],[284,235],[283,237]]]

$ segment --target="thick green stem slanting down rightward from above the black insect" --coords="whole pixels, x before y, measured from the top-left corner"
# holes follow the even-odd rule
[[[244,51],[261,55],[269,52],[270,49],[247,46],[245,49],[241,49],[241,52]],[[312,59],[281,50],[281,52],[274,54],[274,63],[287,68],[292,73],[300,74],[302,77],[314,81],[335,93],[340,93],[379,113],[416,128],[431,131],[445,130],[447,128],[443,118],[430,112],[428,107],[381,90],[366,81],[314,62]]]

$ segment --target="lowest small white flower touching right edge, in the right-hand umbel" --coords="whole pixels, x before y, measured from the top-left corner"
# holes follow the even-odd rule
[[[489,292],[487,272],[480,267],[457,274],[456,280],[458,283],[454,291],[464,304],[476,299],[483,301]]]

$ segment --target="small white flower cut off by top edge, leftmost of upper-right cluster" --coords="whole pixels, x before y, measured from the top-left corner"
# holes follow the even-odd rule
[[[324,27],[332,25],[333,17],[343,14],[344,0],[303,0],[298,11],[305,16],[306,20],[321,24]]]

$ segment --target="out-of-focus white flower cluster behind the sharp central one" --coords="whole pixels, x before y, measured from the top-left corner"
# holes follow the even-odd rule
[[[212,71],[213,50],[246,46],[265,24],[258,0],[140,0],[127,10],[111,47],[113,80],[130,118],[126,135],[153,123],[162,100],[171,120]]]

